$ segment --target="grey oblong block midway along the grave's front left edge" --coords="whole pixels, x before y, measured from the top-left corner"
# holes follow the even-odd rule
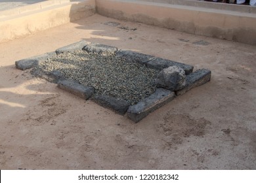
[[[89,99],[94,93],[93,87],[83,86],[72,80],[59,80],[58,88],[66,90],[67,92],[77,95],[85,100]]]

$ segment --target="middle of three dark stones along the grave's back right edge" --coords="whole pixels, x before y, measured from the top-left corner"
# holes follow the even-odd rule
[[[146,63],[150,61],[150,59],[154,58],[154,56],[140,54],[130,50],[118,50],[116,52],[116,56],[125,58],[127,59],[127,61],[140,63],[142,65],[146,65]]]

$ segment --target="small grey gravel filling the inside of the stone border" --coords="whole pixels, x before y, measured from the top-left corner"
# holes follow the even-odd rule
[[[112,55],[83,50],[64,52],[43,61],[37,69],[59,71],[68,80],[93,86],[96,95],[110,95],[135,105],[156,91],[158,72]]]

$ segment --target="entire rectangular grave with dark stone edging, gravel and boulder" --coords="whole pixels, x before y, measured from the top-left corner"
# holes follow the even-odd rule
[[[134,122],[211,79],[207,69],[87,41],[15,65]]]

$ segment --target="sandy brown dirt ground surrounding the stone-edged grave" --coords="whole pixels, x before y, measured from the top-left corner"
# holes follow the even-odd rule
[[[82,39],[211,69],[211,82],[135,124],[14,67]],[[256,169],[255,61],[256,46],[97,14],[1,43],[0,169]]]

